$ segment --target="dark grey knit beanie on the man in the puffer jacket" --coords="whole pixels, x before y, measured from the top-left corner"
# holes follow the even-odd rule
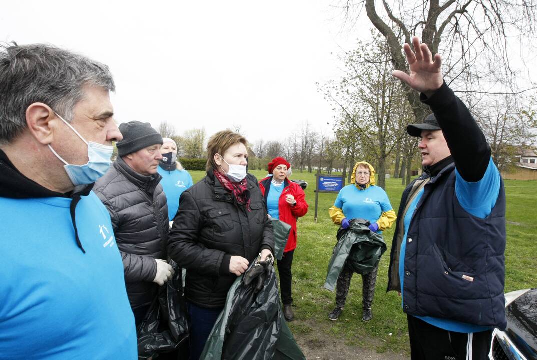
[[[119,132],[123,135],[123,139],[115,144],[119,156],[132,154],[151,145],[162,145],[162,136],[148,122],[130,121],[120,124]]]

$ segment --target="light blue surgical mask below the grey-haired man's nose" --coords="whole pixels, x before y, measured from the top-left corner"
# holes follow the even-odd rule
[[[67,121],[56,114],[75,134],[78,136],[86,146],[88,146],[88,163],[84,165],[69,165],[67,161],[63,160],[56,151],[47,145],[50,151],[56,156],[63,164],[69,180],[71,180],[72,185],[86,185],[89,183],[95,182],[101,176],[103,176],[108,169],[110,168],[110,158],[112,157],[112,152],[114,148],[112,146],[101,145],[94,142],[87,142],[84,138],[78,134],[78,132],[73,128]]]

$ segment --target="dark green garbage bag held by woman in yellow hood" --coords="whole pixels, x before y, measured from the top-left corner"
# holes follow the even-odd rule
[[[368,226],[368,221],[355,219],[349,229],[339,228],[338,242],[328,264],[325,289],[334,291],[346,261],[355,273],[361,275],[371,273],[379,265],[382,254],[386,252],[386,243],[381,234],[369,230]]]

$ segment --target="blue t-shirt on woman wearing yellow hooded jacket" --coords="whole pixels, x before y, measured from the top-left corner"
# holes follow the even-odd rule
[[[386,192],[373,185],[365,190],[359,190],[354,184],[345,186],[339,191],[334,206],[342,209],[349,221],[361,218],[370,223],[376,222],[383,212],[392,210]]]

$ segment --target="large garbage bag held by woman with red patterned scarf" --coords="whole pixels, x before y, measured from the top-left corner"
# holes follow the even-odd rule
[[[263,266],[263,271],[259,271]],[[249,274],[263,277],[243,281]],[[246,282],[246,284],[245,284]],[[201,357],[204,360],[305,360],[281,311],[272,263],[259,258],[231,286],[224,310],[216,320]]]

